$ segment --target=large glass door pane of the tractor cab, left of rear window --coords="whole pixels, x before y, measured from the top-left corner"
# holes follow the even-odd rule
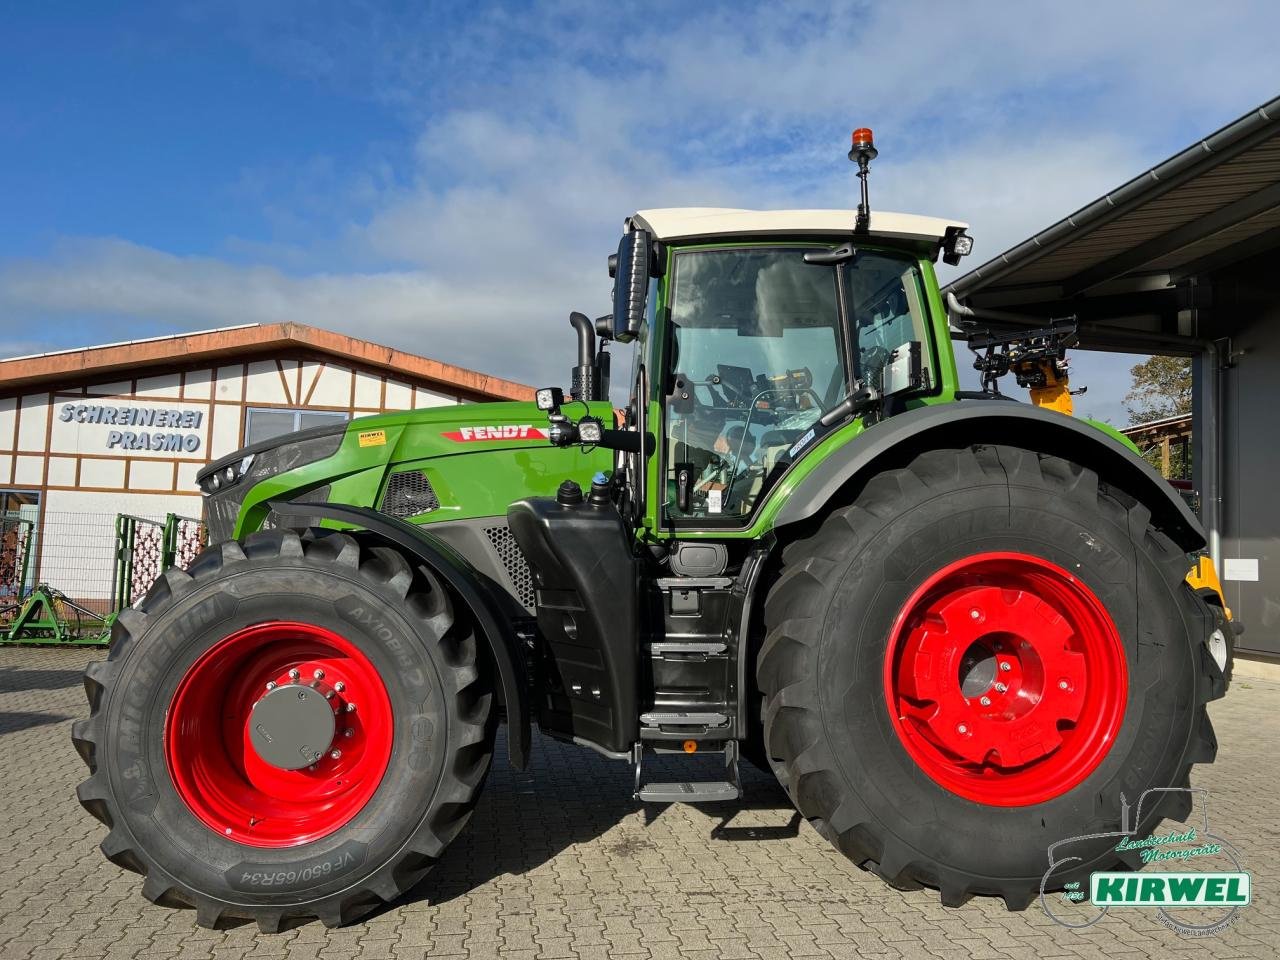
[[[745,517],[846,393],[836,271],[799,248],[690,251],[675,261],[671,311],[687,389],[668,404],[668,516]]]

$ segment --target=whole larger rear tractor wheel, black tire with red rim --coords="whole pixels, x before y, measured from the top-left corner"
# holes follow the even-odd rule
[[[940,449],[872,479],[787,547],[758,660],[765,750],[859,865],[1021,909],[1050,845],[1119,829],[1213,759],[1216,621],[1149,512],[1012,447]],[[1184,817],[1156,794],[1139,836]],[[1052,887],[1133,865],[1073,845]]]

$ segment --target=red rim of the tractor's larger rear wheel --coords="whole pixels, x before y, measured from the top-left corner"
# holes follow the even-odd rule
[[[936,783],[992,806],[1052,800],[1115,742],[1128,700],[1120,634],[1061,567],[982,553],[925,580],[893,623],[884,696]]]

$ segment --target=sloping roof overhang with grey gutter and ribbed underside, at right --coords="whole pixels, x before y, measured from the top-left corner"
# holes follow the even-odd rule
[[[947,285],[1029,305],[1169,289],[1280,244],[1280,97]]]

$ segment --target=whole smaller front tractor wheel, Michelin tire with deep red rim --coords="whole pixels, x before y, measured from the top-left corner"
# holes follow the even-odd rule
[[[218,544],[120,613],[73,728],[102,851],[212,927],[338,925],[416,883],[493,750],[476,636],[385,547]]]

